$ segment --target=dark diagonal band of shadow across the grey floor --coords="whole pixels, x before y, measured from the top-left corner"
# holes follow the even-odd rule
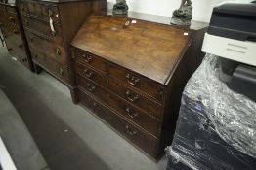
[[[66,123],[44,103],[36,85],[46,86],[43,81],[27,85],[24,80],[34,77],[32,73],[22,75],[21,70],[14,69],[16,73],[10,73],[8,66],[1,67],[4,58],[0,58],[0,85],[15,108],[21,115],[34,138],[39,150],[52,170],[107,170],[107,164],[103,162],[84,141],[68,127]],[[3,61],[3,62],[2,62]],[[15,66],[10,64],[10,67]],[[25,69],[25,68],[24,68]],[[61,96],[64,94],[60,94]],[[60,96],[54,91],[51,96]],[[58,99],[58,98],[56,98]],[[56,100],[49,97],[49,100]],[[61,106],[60,106],[61,107]],[[72,114],[72,113],[70,113]]]

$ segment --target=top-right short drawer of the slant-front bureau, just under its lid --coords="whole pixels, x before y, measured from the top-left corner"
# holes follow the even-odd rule
[[[163,103],[164,87],[162,85],[158,85],[134,72],[112,64],[108,67],[108,76],[125,85],[137,88],[154,98],[157,102]]]

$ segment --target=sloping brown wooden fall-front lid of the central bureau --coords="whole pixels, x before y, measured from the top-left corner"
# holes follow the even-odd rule
[[[93,15],[82,25],[71,45],[103,57],[165,85],[187,50],[192,31],[127,18]]]

